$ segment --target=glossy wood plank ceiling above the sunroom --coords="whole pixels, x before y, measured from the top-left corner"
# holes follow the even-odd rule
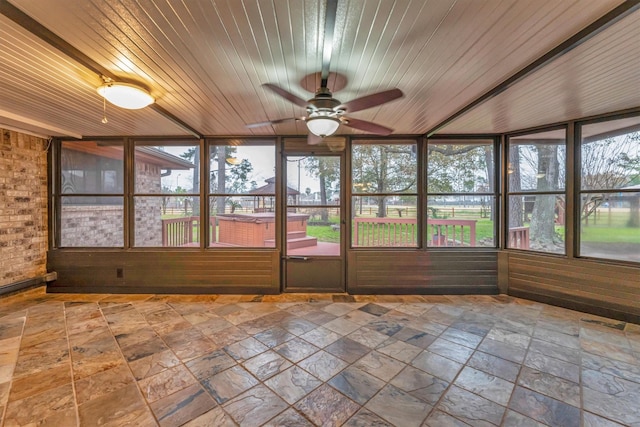
[[[632,12],[447,121],[621,5]],[[507,132],[639,107],[637,6],[338,0],[329,87],[342,101],[400,88],[404,98],[353,115],[398,135]],[[10,19],[14,9],[62,43]],[[0,127],[75,137],[306,135],[300,122],[246,125],[304,113],[261,85],[312,97],[324,12],[324,0],[0,0]],[[149,87],[156,106],[108,105],[101,123],[98,73]]]

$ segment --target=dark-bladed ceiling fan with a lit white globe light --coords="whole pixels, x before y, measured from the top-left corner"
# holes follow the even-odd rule
[[[327,87],[327,79],[324,78],[322,79],[322,85],[316,91],[315,96],[306,101],[277,85],[266,83],[262,86],[277,95],[280,95],[284,99],[300,107],[306,108],[307,115],[304,117],[290,117],[286,119],[252,123],[247,125],[247,127],[254,128],[288,121],[304,121],[310,132],[308,142],[312,145],[319,144],[324,137],[333,135],[341,124],[376,135],[389,135],[393,132],[393,129],[368,122],[366,120],[346,117],[345,114],[376,107],[403,96],[400,89],[389,89],[342,103],[333,97],[331,91]]]

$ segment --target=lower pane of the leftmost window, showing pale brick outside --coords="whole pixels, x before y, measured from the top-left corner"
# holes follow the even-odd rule
[[[62,197],[61,247],[122,247],[122,197]]]

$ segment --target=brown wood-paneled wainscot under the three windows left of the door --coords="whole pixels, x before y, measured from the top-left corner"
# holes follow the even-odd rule
[[[53,250],[49,292],[277,294],[277,250]]]

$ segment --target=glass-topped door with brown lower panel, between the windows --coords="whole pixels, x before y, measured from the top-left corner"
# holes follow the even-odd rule
[[[344,292],[342,156],[286,155],[285,292]]]

